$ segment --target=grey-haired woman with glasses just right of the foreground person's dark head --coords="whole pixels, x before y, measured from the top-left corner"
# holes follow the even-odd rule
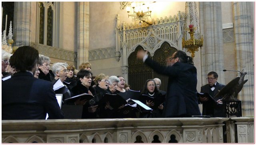
[[[38,78],[44,79],[46,81],[54,80],[54,73],[52,73],[52,70],[50,70],[50,58],[48,56],[43,56],[39,54],[39,61],[38,61],[38,70],[40,71]]]

